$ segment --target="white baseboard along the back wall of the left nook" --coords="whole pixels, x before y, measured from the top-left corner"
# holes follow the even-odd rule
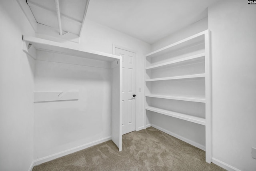
[[[105,137],[105,138],[102,138],[102,139],[98,139],[96,141],[92,141],[90,143],[86,143],[84,145],[80,145],[78,147],[74,147],[74,148],[71,148],[71,149],[67,149],[65,151],[61,151],[59,153],[55,153],[55,154],[52,154],[52,155],[48,155],[46,157],[42,157],[40,159],[36,159],[36,160],[34,160],[34,165],[33,166],[40,165],[40,164],[45,163],[47,161],[51,161],[53,159],[57,159],[57,158],[62,157],[64,155],[68,155],[68,154],[80,151],[82,149],[86,149],[88,147],[92,147],[94,145],[103,143],[103,142],[108,141],[110,139],[111,139],[111,136],[110,137]]]

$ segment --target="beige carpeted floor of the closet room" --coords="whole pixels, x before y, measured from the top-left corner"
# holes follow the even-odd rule
[[[122,139],[121,152],[107,141],[37,165],[32,171],[225,171],[206,163],[201,149],[153,127]]]

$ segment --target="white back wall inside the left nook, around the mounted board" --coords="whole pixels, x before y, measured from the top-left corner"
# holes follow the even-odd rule
[[[65,64],[59,57],[79,61]],[[111,137],[112,70],[51,52],[37,51],[37,58],[36,92],[79,91],[79,99],[34,103],[34,159]]]

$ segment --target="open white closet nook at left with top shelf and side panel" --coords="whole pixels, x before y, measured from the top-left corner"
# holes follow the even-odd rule
[[[23,40],[23,51],[36,60],[35,164],[107,140],[102,137],[121,151],[122,57],[36,37]]]

